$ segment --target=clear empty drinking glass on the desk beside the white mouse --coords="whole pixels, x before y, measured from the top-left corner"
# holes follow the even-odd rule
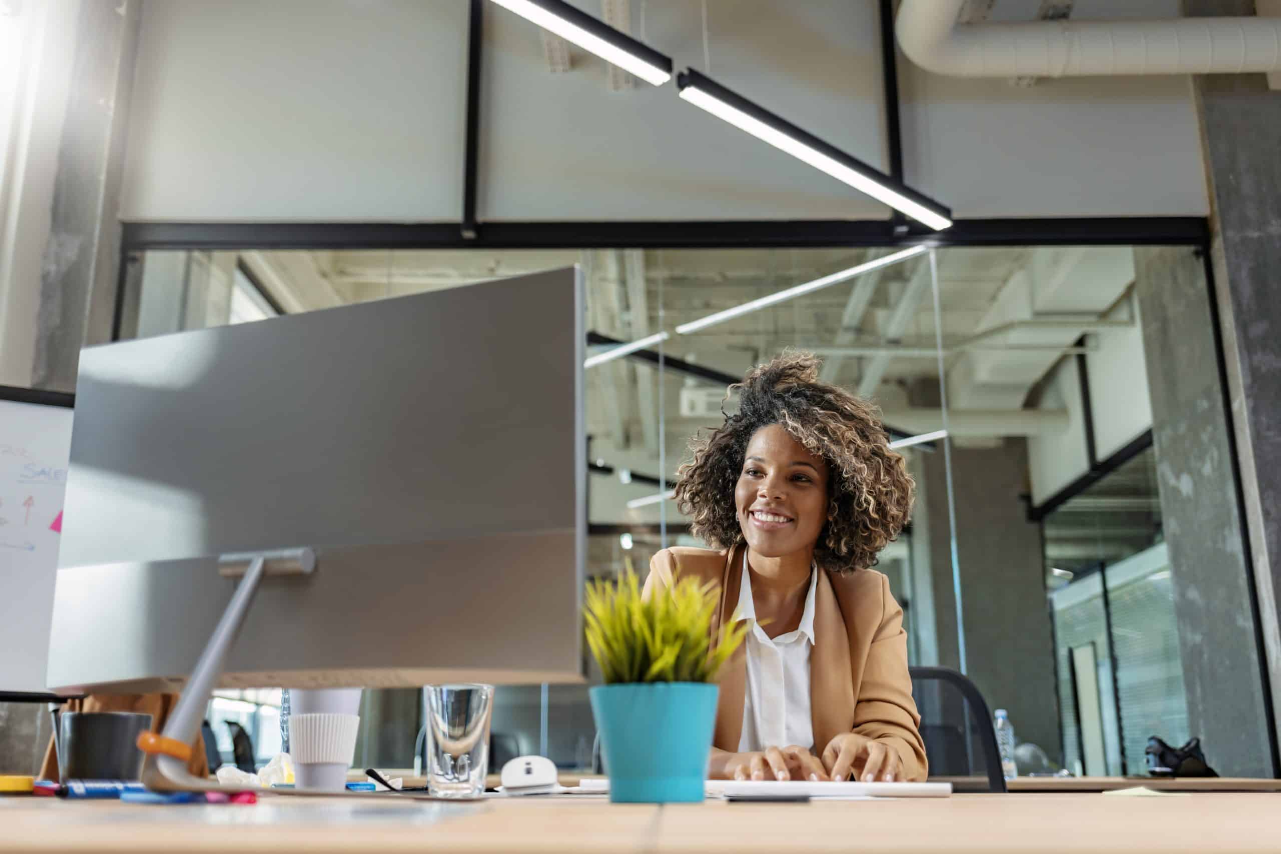
[[[493,685],[428,685],[427,786],[434,798],[479,798],[489,766]]]

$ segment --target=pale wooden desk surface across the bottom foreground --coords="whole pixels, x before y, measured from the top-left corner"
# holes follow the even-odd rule
[[[268,798],[254,807],[0,799],[0,850],[40,851],[1266,851],[1275,794],[954,795],[810,804],[473,804]]]

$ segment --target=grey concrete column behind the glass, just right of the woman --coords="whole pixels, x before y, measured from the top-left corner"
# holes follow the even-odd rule
[[[921,455],[939,663],[957,667],[956,597],[942,453]],[[957,554],[968,676],[1009,711],[1020,741],[1062,761],[1040,525],[1027,521],[1027,443],[953,447]],[[913,529],[915,531],[915,529]]]

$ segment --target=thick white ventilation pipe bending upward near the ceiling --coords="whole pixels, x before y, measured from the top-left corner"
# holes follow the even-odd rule
[[[966,0],[903,0],[898,44],[949,77],[1281,72],[1281,18],[958,24]]]

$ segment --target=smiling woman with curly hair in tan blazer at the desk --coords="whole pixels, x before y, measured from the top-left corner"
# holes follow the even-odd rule
[[[674,576],[720,585],[712,618],[747,620],[720,677],[712,778],[924,780],[903,611],[869,567],[898,536],[915,484],[875,407],[785,352],[752,370],[739,408],[692,444],[676,501],[720,551],[669,548]]]

